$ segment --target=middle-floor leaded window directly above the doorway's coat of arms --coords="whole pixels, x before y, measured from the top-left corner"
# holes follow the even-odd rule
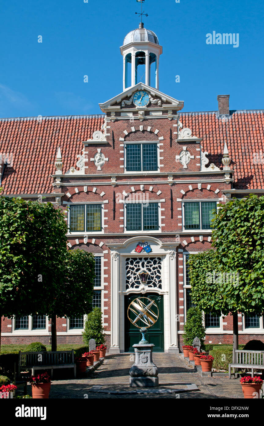
[[[159,204],[125,204],[126,230],[151,231],[159,229]],[[142,211],[143,210],[143,211]]]

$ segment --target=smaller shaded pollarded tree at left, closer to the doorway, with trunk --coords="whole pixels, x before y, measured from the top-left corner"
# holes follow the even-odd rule
[[[56,317],[82,317],[92,310],[94,293],[94,255],[83,250],[69,250],[64,278],[51,317],[51,350],[57,350]]]

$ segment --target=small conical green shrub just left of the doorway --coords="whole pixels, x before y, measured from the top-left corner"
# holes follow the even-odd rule
[[[83,342],[89,344],[90,339],[94,339],[97,345],[105,343],[104,328],[102,325],[102,311],[100,308],[94,308],[88,314],[85,321],[84,331],[82,332]]]

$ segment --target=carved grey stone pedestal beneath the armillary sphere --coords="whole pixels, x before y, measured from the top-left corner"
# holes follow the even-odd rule
[[[153,344],[133,345],[135,348],[136,360],[131,367],[129,374],[130,386],[132,387],[153,387],[159,386],[158,368],[152,361]]]

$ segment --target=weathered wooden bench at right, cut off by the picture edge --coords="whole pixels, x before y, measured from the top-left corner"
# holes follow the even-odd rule
[[[231,379],[231,368],[235,375],[236,368],[250,368],[251,377],[254,370],[264,370],[264,351],[235,350],[235,363],[228,364],[228,374]]]

